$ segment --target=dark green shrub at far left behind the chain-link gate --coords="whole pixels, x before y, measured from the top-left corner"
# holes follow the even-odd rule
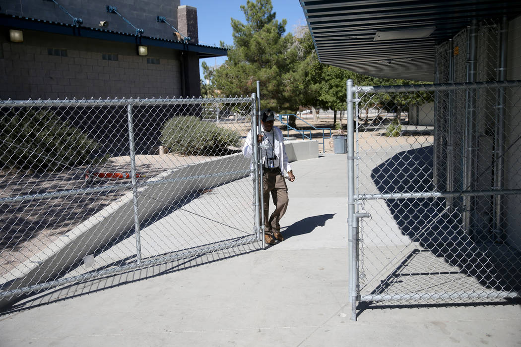
[[[0,116],[0,168],[34,172],[97,164],[100,145],[52,111],[24,108]]]

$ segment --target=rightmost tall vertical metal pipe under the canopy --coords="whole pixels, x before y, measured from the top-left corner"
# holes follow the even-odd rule
[[[498,81],[506,80],[506,52],[508,45],[508,21],[503,16],[500,34],[500,56],[498,67]],[[505,187],[505,100],[506,91],[504,87],[498,90],[498,120],[495,122],[495,143],[494,143],[494,185],[492,189],[502,190]],[[492,230],[497,241],[501,241],[504,233],[504,196],[496,195],[493,198],[493,219]]]

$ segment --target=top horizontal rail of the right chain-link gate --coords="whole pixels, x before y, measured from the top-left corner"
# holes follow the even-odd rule
[[[363,93],[393,93],[393,92],[435,92],[454,89],[478,89],[489,87],[520,87],[521,80],[495,81],[495,82],[464,82],[464,83],[438,83],[438,84],[406,84],[406,85],[380,85],[380,86],[354,86],[355,92]]]

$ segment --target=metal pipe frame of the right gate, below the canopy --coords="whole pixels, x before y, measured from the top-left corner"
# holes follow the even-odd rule
[[[358,98],[358,93],[378,93],[378,92],[436,92],[438,88],[443,87],[447,91],[455,91],[456,89],[464,89],[467,92],[467,99],[472,99],[472,94],[478,88],[486,88],[487,86],[498,87],[499,95],[504,96],[504,88],[519,87],[520,81],[502,81],[502,82],[478,82],[478,83],[450,83],[443,85],[404,85],[404,86],[354,86],[352,80],[346,83],[347,89],[347,108],[348,108],[348,240],[349,240],[349,298],[351,303],[352,320],[356,320],[357,302],[377,302],[389,300],[417,300],[423,301],[427,299],[492,299],[492,298],[519,298],[521,293],[519,291],[493,291],[483,290],[480,293],[474,291],[457,291],[457,292],[413,292],[413,293],[397,293],[395,295],[385,294],[365,294],[361,295],[360,291],[360,274],[361,274],[361,254],[360,254],[360,236],[359,236],[359,220],[361,218],[370,217],[371,211],[363,211],[359,208],[359,204],[366,200],[394,200],[394,199],[425,199],[425,198],[475,198],[479,196],[489,196],[497,199],[506,195],[520,195],[521,189],[505,189],[504,187],[492,187],[490,190],[470,189],[452,191],[413,191],[400,192],[394,191],[389,194],[365,194],[365,192],[355,192],[355,166],[358,165],[359,160],[363,158],[355,157],[355,124],[357,122],[358,104],[361,99]],[[471,95],[469,97],[469,95]],[[504,99],[500,99],[504,102]],[[470,116],[475,115],[474,109],[467,110]],[[472,119],[471,119],[472,120]],[[435,125],[436,128],[436,125]],[[436,131],[436,130],[435,130]],[[455,191],[456,190],[456,191]],[[465,214],[463,214],[465,217]]]

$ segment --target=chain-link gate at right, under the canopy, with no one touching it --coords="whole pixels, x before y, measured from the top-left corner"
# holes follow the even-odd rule
[[[357,301],[519,297],[519,100],[521,81],[348,81],[353,320]]]

